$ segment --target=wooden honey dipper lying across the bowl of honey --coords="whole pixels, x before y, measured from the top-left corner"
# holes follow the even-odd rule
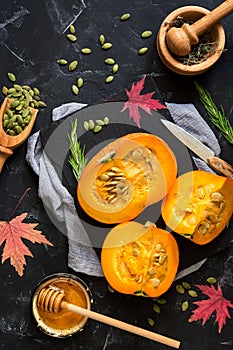
[[[43,288],[38,295],[37,306],[47,312],[58,313],[61,309],[72,311],[79,315],[89,317],[93,320],[106,323],[110,326],[123,329],[125,331],[140,335],[151,340],[155,340],[173,348],[178,349],[180,347],[180,342],[177,340],[167,338],[163,335],[156,334],[145,329],[130,325],[128,323],[116,320],[114,318],[99,314],[97,312],[87,310],[80,306],[70,304],[66,302],[64,298],[65,294],[62,290],[58,290],[57,288]]]

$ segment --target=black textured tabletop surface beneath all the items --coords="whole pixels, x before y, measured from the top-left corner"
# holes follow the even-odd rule
[[[205,7],[213,9],[220,1],[206,1]],[[10,86],[7,72],[14,72],[19,84],[37,86],[47,108],[39,112],[33,131],[45,128],[51,123],[51,111],[62,103],[77,101],[89,105],[112,100],[125,100],[125,88],[147,75],[143,93],[155,91],[154,98],[162,103],[194,103],[207,119],[194,88],[193,79],[177,76],[168,71],[155,48],[155,37],[160,23],[173,9],[193,5],[191,1],[159,0],[146,1],[5,1],[0,4],[0,77],[1,86]],[[195,5],[203,5],[195,1]],[[121,23],[122,13],[130,12],[130,21]],[[197,80],[205,86],[218,105],[224,106],[226,115],[233,123],[233,21],[232,16],[222,23],[226,31],[226,48],[219,62]],[[78,40],[73,45],[66,39],[67,28],[74,21]],[[146,41],[140,38],[145,29],[153,30],[153,36]],[[107,41],[113,43],[111,51],[103,52],[98,43],[99,34],[104,33]],[[149,46],[145,56],[139,57],[137,50]],[[91,47],[89,56],[80,54],[82,47]],[[119,73],[112,84],[105,84],[109,67],[106,57],[114,57],[119,63]],[[60,57],[69,61],[77,59],[76,73],[57,65]],[[82,76],[85,85],[75,97],[71,84]],[[232,146],[210,125],[222,149],[222,157],[232,163]],[[38,198],[38,179],[25,162],[26,143],[14,151],[0,175],[0,220],[8,217],[26,188],[31,190],[17,210],[17,214],[28,212],[28,218],[38,222],[38,228],[54,244],[54,248],[27,242],[34,259],[27,258],[23,277],[18,277],[6,261],[0,267],[0,348],[1,349],[83,349],[83,350],[130,350],[168,349],[164,345],[133,336],[118,329],[89,320],[80,334],[69,339],[57,340],[41,333],[32,318],[30,299],[36,284],[45,276],[55,272],[71,272],[67,268],[67,240],[48,218]],[[232,225],[230,227],[232,232]],[[2,247],[1,247],[2,252]],[[233,248],[215,254],[201,269],[185,278],[193,284],[206,283],[214,275],[224,294],[233,300]],[[121,319],[128,323],[153,329],[181,341],[181,349],[221,350],[233,347],[232,320],[227,322],[218,334],[214,317],[201,323],[188,323],[190,310],[180,311],[186,296],[175,292],[174,286],[166,293],[167,303],[161,306],[161,314],[153,311],[153,300],[110,293],[103,278],[80,275],[94,295],[93,309]],[[201,295],[199,295],[201,297]],[[192,301],[189,298],[190,302]],[[192,306],[194,308],[194,306]],[[232,314],[232,313],[231,313]],[[155,320],[150,327],[147,317]]]

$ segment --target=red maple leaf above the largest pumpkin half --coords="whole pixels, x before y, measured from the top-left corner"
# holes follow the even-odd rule
[[[154,100],[151,97],[155,93],[149,92],[148,94],[140,95],[144,87],[145,76],[135,85],[132,84],[131,90],[126,91],[126,95],[128,96],[128,101],[125,102],[121,112],[124,112],[126,109],[129,109],[129,116],[133,118],[137,126],[140,128],[140,119],[141,115],[139,112],[139,107],[143,109],[146,113],[151,114],[151,109],[157,111],[158,109],[167,108],[162,105],[158,100]]]

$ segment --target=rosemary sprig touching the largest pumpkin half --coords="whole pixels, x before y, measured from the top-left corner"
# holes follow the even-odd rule
[[[80,142],[77,137],[77,126],[78,121],[75,119],[71,122],[71,132],[68,134],[68,139],[70,143],[70,157],[69,163],[72,167],[73,174],[77,181],[79,181],[81,173],[87,164],[87,158],[85,157],[85,146],[81,147]]]

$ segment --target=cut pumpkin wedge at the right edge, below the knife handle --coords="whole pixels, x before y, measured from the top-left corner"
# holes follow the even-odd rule
[[[173,231],[206,244],[233,212],[233,180],[201,170],[179,176],[164,200],[162,217]]]

